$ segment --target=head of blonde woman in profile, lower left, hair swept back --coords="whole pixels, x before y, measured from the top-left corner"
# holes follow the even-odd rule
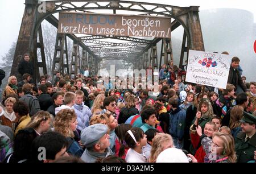
[[[36,135],[41,135],[43,132],[47,132],[50,128],[52,121],[51,115],[47,111],[40,110],[27,124],[26,128],[31,127],[36,132]]]

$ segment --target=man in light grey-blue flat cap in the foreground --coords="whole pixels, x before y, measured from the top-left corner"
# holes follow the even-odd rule
[[[94,124],[81,131],[81,142],[86,150],[81,159],[87,163],[94,163],[97,158],[105,158],[112,155],[109,145],[108,126]]]

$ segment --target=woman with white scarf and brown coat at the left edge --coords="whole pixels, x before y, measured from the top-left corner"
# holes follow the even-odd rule
[[[18,122],[15,113],[13,111],[13,105],[16,103],[16,98],[9,97],[5,101],[5,112],[3,116],[0,117],[1,125],[9,126],[11,129],[15,129],[15,123]]]

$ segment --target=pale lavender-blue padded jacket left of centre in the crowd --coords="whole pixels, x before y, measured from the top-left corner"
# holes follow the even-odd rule
[[[77,105],[75,103],[75,105],[72,106],[72,109],[75,110],[77,115],[77,129],[83,130],[85,127],[88,127],[90,117],[92,116],[92,112],[90,111],[89,107],[84,105],[84,102],[82,102],[82,105]]]

